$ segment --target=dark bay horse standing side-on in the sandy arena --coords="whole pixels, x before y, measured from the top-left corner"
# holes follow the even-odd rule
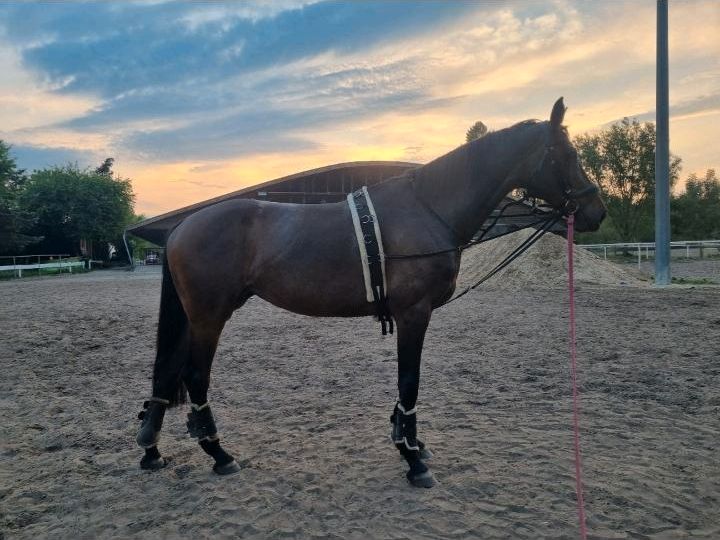
[[[580,231],[605,216],[597,188],[578,161],[562,120],[562,98],[550,120],[526,121],[489,133],[369,188],[385,253],[425,257],[387,259],[387,307],[397,326],[398,392],[393,440],[407,460],[409,481],[430,487],[417,439],[415,403],[420,356],[434,308],[455,290],[460,251],[503,196],[522,188],[563,211],[572,207]],[[219,264],[218,261],[223,261]],[[220,446],[208,405],[210,369],[220,333],[232,313],[257,295],[315,317],[376,313],[363,282],[358,241],[347,202],[281,204],[240,199],[200,210],[169,236],[160,300],[152,398],[137,436],[141,466],[165,465],[157,442],[167,407],[190,395],[188,430],[215,459],[215,472],[239,470]]]

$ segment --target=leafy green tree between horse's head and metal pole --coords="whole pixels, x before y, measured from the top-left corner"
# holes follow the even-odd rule
[[[606,228],[623,242],[651,240],[655,208],[655,125],[624,118],[610,129],[575,138],[588,176],[608,206]],[[680,158],[671,157],[670,184],[677,181]]]

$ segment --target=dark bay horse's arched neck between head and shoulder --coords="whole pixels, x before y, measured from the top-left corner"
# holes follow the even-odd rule
[[[415,189],[459,242],[468,242],[505,195],[532,176],[544,152],[541,123],[465,144],[415,171]]]

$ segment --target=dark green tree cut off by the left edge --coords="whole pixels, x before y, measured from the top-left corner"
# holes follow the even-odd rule
[[[27,234],[33,217],[18,205],[18,194],[27,177],[10,155],[10,145],[0,140],[0,253],[17,253],[41,240]]]

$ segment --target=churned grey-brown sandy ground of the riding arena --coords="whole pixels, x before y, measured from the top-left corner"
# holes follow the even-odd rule
[[[156,272],[0,283],[0,537],[576,538],[562,289],[483,287],[438,310],[419,430],[440,482],[389,443],[394,341],[370,319],[253,299],[212,404],[243,465],[217,477],[168,414],[140,471]],[[578,291],[591,538],[720,538],[720,288]]]

